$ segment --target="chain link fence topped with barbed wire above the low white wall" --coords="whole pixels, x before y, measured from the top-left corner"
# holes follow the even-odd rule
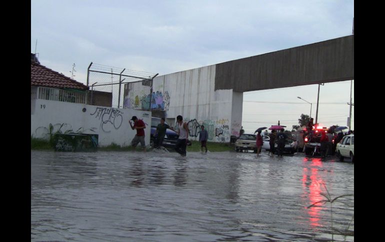
[[[113,108],[148,111],[151,109],[152,80],[156,75],[91,62],[87,71],[88,104],[92,105],[95,99],[107,95]]]

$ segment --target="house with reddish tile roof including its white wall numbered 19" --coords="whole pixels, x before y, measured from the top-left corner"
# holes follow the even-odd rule
[[[90,92],[86,85],[41,65],[31,54],[31,137],[49,139],[57,131],[76,132],[97,135],[99,147],[112,143],[125,147],[136,135],[129,126],[132,116],[150,125],[151,112],[112,108],[111,92],[93,91],[93,98]],[[144,132],[149,144],[150,128]],[[57,147],[64,146],[57,143]]]

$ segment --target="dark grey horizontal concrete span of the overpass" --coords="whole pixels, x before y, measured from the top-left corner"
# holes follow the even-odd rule
[[[215,65],[215,90],[256,91],[354,79],[354,35]]]

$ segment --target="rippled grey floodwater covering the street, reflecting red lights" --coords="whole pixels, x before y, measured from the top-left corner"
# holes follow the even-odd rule
[[[354,194],[354,164],[302,153],[31,151],[31,241],[354,241],[354,197],[331,213],[330,203],[307,208],[321,193]]]

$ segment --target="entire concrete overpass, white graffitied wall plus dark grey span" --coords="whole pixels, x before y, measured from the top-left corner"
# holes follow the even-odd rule
[[[156,76],[152,103],[173,126],[182,115],[190,138],[197,139],[203,124],[209,141],[229,142],[242,127],[243,92],[351,79],[354,35]],[[140,107],[146,97],[150,100],[140,91],[141,82],[133,85],[124,88],[125,108]]]

